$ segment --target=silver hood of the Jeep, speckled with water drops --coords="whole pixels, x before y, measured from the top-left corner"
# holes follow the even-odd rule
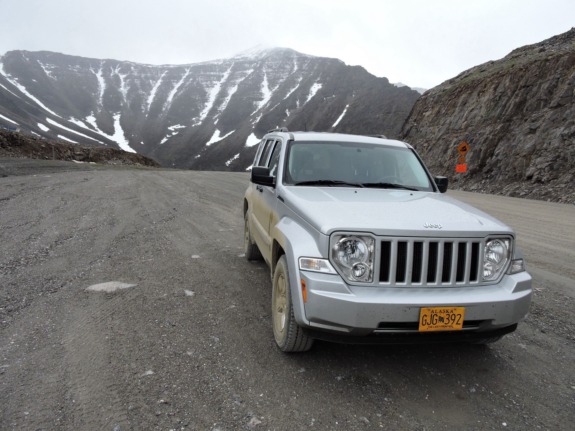
[[[324,234],[350,230],[382,236],[515,236],[496,218],[441,193],[284,186],[281,194],[287,206]]]

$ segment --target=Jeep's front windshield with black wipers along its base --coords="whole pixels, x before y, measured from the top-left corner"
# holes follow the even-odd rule
[[[382,144],[291,141],[286,183],[343,186],[337,182],[366,187],[434,191],[415,153],[409,148]],[[386,184],[375,184],[386,183]],[[397,187],[398,188],[398,187]]]

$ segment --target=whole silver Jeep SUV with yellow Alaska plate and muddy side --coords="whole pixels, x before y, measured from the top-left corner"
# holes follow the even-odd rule
[[[270,130],[244,198],[244,250],[271,269],[279,348],[513,332],[531,301],[515,232],[446,190],[404,142]]]

